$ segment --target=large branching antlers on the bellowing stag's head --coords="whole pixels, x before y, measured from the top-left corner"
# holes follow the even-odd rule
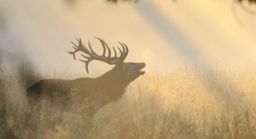
[[[126,44],[118,42],[119,44],[121,44],[122,49],[123,49],[123,51],[121,51],[121,49],[119,47],[117,47],[119,49],[119,51],[120,51],[120,57],[117,57],[117,54],[116,54],[116,51],[115,51],[115,47],[113,46],[113,49],[114,49],[114,52],[115,52],[115,56],[111,57],[111,50],[109,49],[108,44],[106,44],[100,38],[96,38],[96,39],[101,41],[101,44],[102,44],[102,47],[103,47],[103,54],[101,56],[99,56],[98,54],[96,54],[93,51],[92,46],[91,46],[90,42],[88,41],[88,46],[89,46],[89,49],[90,49],[90,51],[89,51],[85,47],[85,45],[82,44],[81,38],[79,38],[79,40],[76,38],[76,40],[78,42],[78,45],[74,44],[71,41],[71,43],[74,44],[74,46],[75,46],[75,47],[73,46],[73,48],[75,49],[74,51],[67,51],[67,52],[69,52],[70,54],[73,55],[74,60],[76,60],[75,53],[78,52],[78,51],[86,53],[89,56],[88,57],[88,56],[85,56],[85,55],[81,54],[81,56],[86,58],[87,60],[79,59],[80,61],[85,63],[85,68],[86,68],[87,73],[89,73],[89,71],[88,71],[88,64],[92,60],[99,60],[99,61],[108,63],[110,65],[114,65],[114,64],[122,63],[124,61],[124,59],[127,57],[127,55],[128,55],[128,47],[126,46]],[[106,47],[107,47],[107,50],[108,50],[108,56],[106,56]]]

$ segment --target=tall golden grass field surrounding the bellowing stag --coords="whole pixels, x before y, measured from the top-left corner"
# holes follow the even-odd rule
[[[1,139],[256,139],[256,76],[246,69],[147,72],[95,114],[87,133],[80,115],[31,108],[26,98],[40,79],[79,73],[31,69],[0,70]]]

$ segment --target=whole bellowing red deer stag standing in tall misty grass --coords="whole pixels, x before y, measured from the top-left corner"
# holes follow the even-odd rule
[[[125,92],[128,84],[134,81],[141,75],[145,74],[145,71],[141,71],[145,67],[145,63],[125,63],[124,59],[128,55],[128,47],[124,43],[120,43],[122,51],[120,56],[117,57],[115,48],[113,46],[115,56],[111,57],[111,51],[103,40],[101,41],[103,46],[103,54],[100,56],[96,54],[90,42],[88,42],[89,50],[81,42],[81,38],[78,41],[78,45],[74,44],[75,50],[69,52],[75,57],[75,53],[80,51],[87,54],[87,56],[81,53],[81,56],[87,60],[81,60],[86,65],[86,71],[88,73],[88,64],[92,60],[99,60],[115,67],[105,74],[97,78],[78,78],[74,80],[64,79],[47,79],[36,82],[31,87],[27,88],[27,98],[31,106],[37,105],[40,101],[46,100],[52,107],[57,110],[65,111],[69,113],[81,114],[83,119],[92,118],[93,115],[102,106],[117,101],[118,98]],[[107,48],[107,49],[106,49]],[[106,56],[106,50],[108,55]]]

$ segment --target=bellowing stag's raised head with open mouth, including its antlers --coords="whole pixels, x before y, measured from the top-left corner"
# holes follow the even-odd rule
[[[82,53],[85,53],[88,55],[88,56],[85,56],[84,54],[81,54],[81,56],[86,58],[86,60],[79,59],[80,61],[85,63],[87,73],[89,73],[89,71],[88,71],[89,62],[91,62],[92,60],[99,60],[99,61],[108,63],[110,65],[115,65],[115,67],[112,70],[115,71],[116,75],[121,75],[123,78],[125,78],[126,83],[130,83],[130,82],[134,81],[136,78],[138,78],[139,76],[145,74],[145,71],[141,71],[141,69],[143,69],[146,66],[145,63],[125,63],[124,62],[125,58],[128,55],[128,47],[126,44],[118,42],[119,44],[121,44],[121,47],[122,47],[122,51],[119,47],[117,47],[118,50],[120,51],[119,57],[117,56],[115,47],[113,46],[115,56],[111,57],[111,50],[108,47],[108,44],[106,44],[100,38],[96,38],[96,39],[101,41],[101,44],[103,47],[103,54],[101,56],[96,54],[93,51],[92,46],[91,46],[90,42],[88,41],[88,46],[90,49],[90,51],[89,51],[88,48],[86,48],[86,46],[81,42],[81,38],[79,40],[77,39],[78,45],[74,44],[71,41],[72,44],[74,44],[74,46],[75,46],[75,47],[73,47],[75,50],[68,51],[70,54],[73,55],[75,60],[76,60],[75,53],[78,51],[81,51]],[[107,47],[107,49],[106,49],[106,47]],[[108,50],[108,55],[106,55],[106,50]]]

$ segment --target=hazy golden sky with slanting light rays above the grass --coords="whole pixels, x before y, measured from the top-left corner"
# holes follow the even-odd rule
[[[0,0],[0,47],[27,51],[34,63],[84,69],[67,53],[70,41],[90,40],[95,51],[103,38],[129,47],[126,62],[145,62],[147,68],[169,67],[201,57],[212,63],[225,59],[243,66],[255,62],[256,17],[239,6],[240,26],[231,12],[233,0]],[[252,7],[256,9],[256,7]],[[91,62],[90,67],[106,67]],[[97,66],[96,66],[97,67]],[[108,69],[110,66],[107,66]]]

